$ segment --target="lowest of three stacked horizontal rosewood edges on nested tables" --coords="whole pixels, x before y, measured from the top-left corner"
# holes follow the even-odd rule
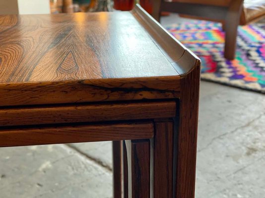
[[[149,139],[153,123],[117,123],[0,129],[0,147]]]

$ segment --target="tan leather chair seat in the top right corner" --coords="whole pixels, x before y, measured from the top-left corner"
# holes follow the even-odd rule
[[[265,17],[265,0],[245,0],[240,25]]]

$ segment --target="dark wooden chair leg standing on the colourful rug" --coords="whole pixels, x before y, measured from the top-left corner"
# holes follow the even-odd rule
[[[232,0],[225,19],[224,57],[233,60],[236,53],[237,28],[242,11],[243,0]]]

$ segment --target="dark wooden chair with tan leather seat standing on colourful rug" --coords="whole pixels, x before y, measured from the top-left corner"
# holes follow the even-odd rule
[[[159,21],[161,11],[168,11],[222,22],[226,33],[224,57],[232,60],[235,58],[239,23],[245,25],[265,16],[264,0],[245,1],[243,4],[243,0],[154,0],[153,17]]]

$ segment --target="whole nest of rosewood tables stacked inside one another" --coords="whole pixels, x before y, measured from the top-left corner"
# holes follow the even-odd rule
[[[139,6],[2,15],[0,147],[114,141],[115,198],[193,198],[199,65]]]

